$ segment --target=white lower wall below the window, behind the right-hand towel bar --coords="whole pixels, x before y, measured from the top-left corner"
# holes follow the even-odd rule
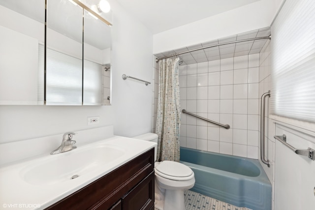
[[[315,132],[276,123],[276,135],[286,135],[297,149],[315,149]],[[315,207],[315,161],[298,155],[280,141],[275,142],[274,210],[313,210]]]

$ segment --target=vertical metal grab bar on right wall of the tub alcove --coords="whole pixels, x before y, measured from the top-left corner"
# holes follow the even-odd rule
[[[265,92],[261,96],[261,106],[260,106],[260,159],[261,161],[270,167],[269,160],[265,159],[265,99],[270,97],[270,90]]]

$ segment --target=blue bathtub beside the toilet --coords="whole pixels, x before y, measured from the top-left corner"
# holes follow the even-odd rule
[[[252,210],[271,210],[271,183],[256,159],[181,148],[195,175],[190,190]]]

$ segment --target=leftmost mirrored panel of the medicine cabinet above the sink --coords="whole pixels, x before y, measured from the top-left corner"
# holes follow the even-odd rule
[[[0,105],[44,104],[45,0],[0,0]]]

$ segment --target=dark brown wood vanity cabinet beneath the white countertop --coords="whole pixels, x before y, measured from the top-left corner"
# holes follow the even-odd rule
[[[154,210],[154,148],[46,210]]]

